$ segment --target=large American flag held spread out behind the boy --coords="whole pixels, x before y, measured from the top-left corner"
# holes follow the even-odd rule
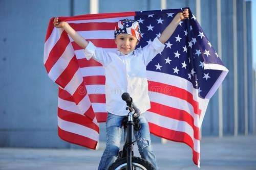
[[[118,20],[139,21],[142,39],[137,48],[151,43],[182,9],[90,14],[59,17],[84,39],[106,51],[116,50],[114,29]],[[189,11],[190,12],[190,11]],[[99,122],[105,122],[104,67],[86,60],[83,49],[53,19],[45,41],[44,65],[58,84],[58,135],[61,139],[95,149]],[[227,75],[218,54],[196,17],[179,23],[146,67],[151,109],[146,112],[150,131],[159,137],[184,142],[200,166],[200,127],[211,96]],[[121,98],[121,96],[120,96]]]

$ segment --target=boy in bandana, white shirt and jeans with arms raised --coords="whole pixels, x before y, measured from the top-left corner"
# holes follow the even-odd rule
[[[178,13],[161,36],[156,37],[152,43],[144,46],[141,50],[135,50],[141,37],[139,23],[131,19],[122,19],[118,21],[115,28],[114,37],[117,45],[115,52],[106,52],[103,48],[94,46],[92,42],[86,41],[75,32],[67,22],[58,22],[58,18],[54,18],[54,26],[64,29],[84,49],[88,60],[94,58],[105,68],[105,97],[108,117],[106,120],[106,148],[101,157],[99,169],[108,169],[118,155],[121,123],[127,115],[126,104],[122,101],[121,94],[129,92],[141,113],[150,109],[146,65],[164,50],[165,42],[172,36],[179,22],[188,16],[188,9]],[[137,141],[140,155],[158,169],[147,120],[143,114],[139,119],[141,129],[139,132],[135,131],[134,135],[136,139],[140,137]]]

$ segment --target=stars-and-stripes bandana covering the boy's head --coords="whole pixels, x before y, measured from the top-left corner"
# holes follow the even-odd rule
[[[138,39],[141,38],[139,22],[132,19],[121,19],[117,22],[114,36],[119,34],[130,34]]]

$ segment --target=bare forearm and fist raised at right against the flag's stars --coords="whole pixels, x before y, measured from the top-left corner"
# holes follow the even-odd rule
[[[188,9],[185,9],[182,13],[178,13],[172,22],[169,23],[169,25],[164,29],[162,32],[161,36],[159,37],[159,41],[162,42],[163,44],[172,36],[174,33],[175,29],[179,25],[179,22],[183,19],[187,19],[189,16]]]

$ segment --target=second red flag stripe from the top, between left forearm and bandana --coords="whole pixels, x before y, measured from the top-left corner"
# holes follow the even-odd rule
[[[115,30],[117,22],[70,23],[75,31]]]

